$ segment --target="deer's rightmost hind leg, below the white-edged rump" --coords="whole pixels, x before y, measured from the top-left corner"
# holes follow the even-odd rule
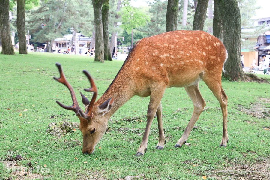
[[[227,102],[228,97],[223,91],[221,87],[221,75],[218,79],[211,79],[210,76],[208,78],[203,79],[208,88],[213,92],[214,96],[219,101],[221,110],[222,110],[222,118],[223,118],[223,135],[220,142],[220,147],[226,147],[229,142],[228,131],[227,131]]]

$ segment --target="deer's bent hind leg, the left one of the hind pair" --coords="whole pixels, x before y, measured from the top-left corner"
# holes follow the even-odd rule
[[[183,144],[186,143],[187,138],[190,134],[190,131],[192,130],[194,124],[199,119],[200,114],[202,113],[203,108],[205,107],[205,101],[202,98],[202,95],[199,91],[199,84],[195,84],[192,86],[185,87],[185,90],[190,97],[191,101],[193,102],[194,110],[193,114],[191,116],[191,119],[184,131],[184,134],[182,137],[177,141],[177,144],[174,146],[176,148],[182,147]]]

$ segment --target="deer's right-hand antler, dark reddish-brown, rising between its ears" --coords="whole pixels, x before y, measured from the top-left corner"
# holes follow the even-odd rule
[[[92,79],[90,74],[87,72],[87,70],[83,70],[83,73],[87,76],[87,78],[88,78],[88,80],[90,81],[90,84],[91,84],[91,87],[89,89],[85,88],[84,90],[87,91],[87,92],[93,92],[94,94],[93,94],[93,97],[92,97],[88,107],[87,107],[86,112],[83,113],[82,110],[79,110],[79,113],[84,118],[92,118],[93,117],[92,110],[93,110],[96,98],[98,96],[98,89],[97,89],[97,87],[95,85],[94,80]]]

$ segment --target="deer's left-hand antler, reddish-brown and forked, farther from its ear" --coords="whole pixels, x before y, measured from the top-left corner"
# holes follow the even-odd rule
[[[64,75],[61,64],[55,63],[55,65],[58,67],[60,77],[59,78],[53,77],[53,79],[55,79],[56,81],[64,84],[69,89],[73,104],[71,106],[66,106],[64,104],[61,104],[59,101],[56,101],[56,103],[59,104],[64,109],[74,111],[76,113],[76,115],[78,115],[80,107],[79,107],[78,101],[76,99],[74,90],[73,90],[72,86],[67,82],[67,79],[66,79],[66,77]]]

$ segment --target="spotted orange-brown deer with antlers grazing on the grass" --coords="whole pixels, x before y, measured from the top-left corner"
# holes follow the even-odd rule
[[[85,106],[84,111],[79,107],[74,90],[67,82],[61,64],[56,63],[60,77],[54,79],[69,89],[73,104],[66,106],[59,101],[56,103],[64,109],[74,111],[78,116],[79,129],[82,132],[82,153],[91,154],[104,135],[108,120],[125,102],[135,95],[150,96],[146,128],[135,154],[141,156],[146,153],[150,127],[155,115],[157,115],[159,131],[159,141],[155,148],[164,149],[166,144],[161,106],[166,88],[184,87],[193,102],[191,119],[174,147],[180,148],[187,142],[190,131],[206,105],[199,91],[199,82],[202,80],[219,101],[223,118],[223,134],[219,146],[226,147],[229,141],[228,97],[221,86],[221,75],[227,57],[228,52],[223,43],[207,32],[187,30],[164,32],[136,42],[112,83],[98,101],[96,101],[98,89],[95,82],[90,74],[83,70],[91,85],[84,90],[93,92],[91,101],[80,92]]]

